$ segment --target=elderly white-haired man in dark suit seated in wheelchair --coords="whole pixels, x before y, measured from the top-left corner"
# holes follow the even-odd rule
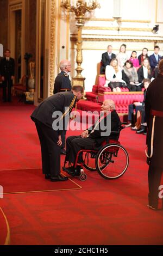
[[[115,110],[115,102],[113,100],[105,100],[101,106],[102,115],[88,130],[85,130],[80,136],[70,136],[66,139],[66,158],[70,167],[62,169],[71,175],[80,175],[80,165],[74,168],[77,154],[82,149],[95,150],[100,148],[102,142],[106,139],[117,139],[116,133],[110,131],[118,131],[120,126],[120,118]],[[109,127],[108,127],[109,126]],[[78,163],[83,162],[82,153],[79,154]]]

